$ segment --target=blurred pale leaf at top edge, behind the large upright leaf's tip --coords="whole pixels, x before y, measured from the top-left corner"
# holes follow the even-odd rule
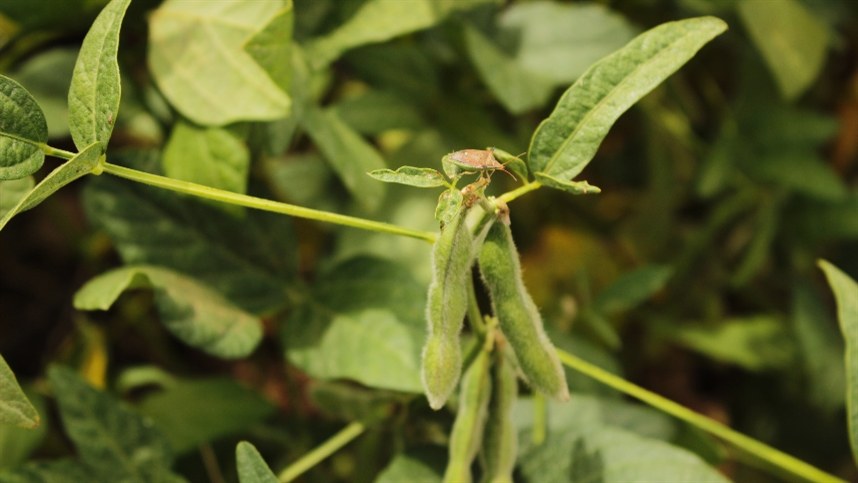
[[[501,13],[500,35],[515,36],[515,62],[542,79],[569,84],[634,36],[625,19],[604,5],[533,1]]]

